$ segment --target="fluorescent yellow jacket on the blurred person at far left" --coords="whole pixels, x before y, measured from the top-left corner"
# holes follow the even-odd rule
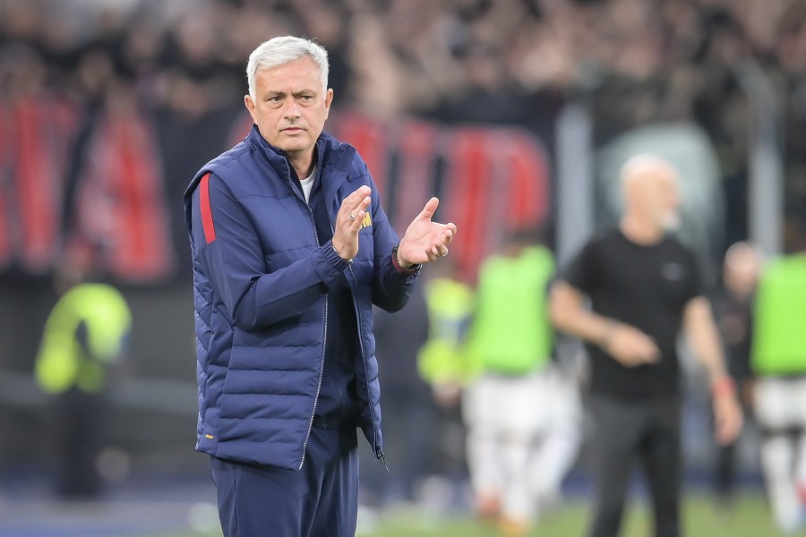
[[[81,323],[87,330],[87,350],[76,340]],[[132,314],[122,294],[103,284],[74,286],[47,318],[36,363],[36,378],[47,393],[73,386],[98,393],[106,386],[106,366],[123,353]]]

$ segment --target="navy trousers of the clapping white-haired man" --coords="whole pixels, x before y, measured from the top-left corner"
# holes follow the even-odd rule
[[[313,427],[299,472],[210,457],[225,537],[353,537],[357,447],[355,426]]]

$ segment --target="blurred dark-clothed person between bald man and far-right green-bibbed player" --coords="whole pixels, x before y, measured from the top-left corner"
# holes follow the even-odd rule
[[[752,340],[752,306],[759,282],[762,256],[750,243],[733,243],[725,252],[722,286],[712,299],[716,327],[725,346],[728,374],[736,382],[747,430],[751,404],[750,342]],[[742,435],[743,436],[743,435]],[[714,473],[716,499],[723,507],[733,503],[737,481],[737,447],[735,441],[717,445]]]

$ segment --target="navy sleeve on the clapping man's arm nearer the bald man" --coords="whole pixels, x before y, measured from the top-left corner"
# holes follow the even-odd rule
[[[392,250],[400,242],[373,189],[373,303],[386,311],[399,311],[408,302],[419,269],[401,271],[392,262]]]

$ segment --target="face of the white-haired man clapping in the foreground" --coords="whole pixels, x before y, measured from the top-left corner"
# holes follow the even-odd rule
[[[313,155],[330,112],[333,90],[324,91],[319,67],[311,58],[255,73],[254,100],[244,98],[262,136],[289,157]]]

